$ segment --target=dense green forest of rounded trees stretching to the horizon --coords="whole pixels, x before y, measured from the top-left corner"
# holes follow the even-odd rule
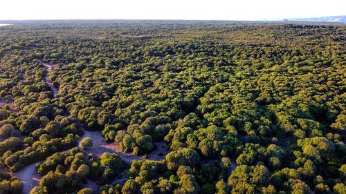
[[[0,194],[346,193],[346,26],[8,21]]]

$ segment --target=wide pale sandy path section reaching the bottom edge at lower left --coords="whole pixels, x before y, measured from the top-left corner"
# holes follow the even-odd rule
[[[21,171],[17,173],[12,173],[13,176],[18,177],[23,182],[23,193],[30,193],[31,189],[39,184],[42,176],[36,171],[36,164],[30,164],[25,166]]]

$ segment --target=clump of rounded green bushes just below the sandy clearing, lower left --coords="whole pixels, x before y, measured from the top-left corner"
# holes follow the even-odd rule
[[[72,148],[65,153],[55,153],[36,165],[37,172],[43,175],[37,187],[46,189],[48,193],[75,192],[82,188],[86,179],[95,180],[98,184],[108,183],[125,166],[125,162],[116,154],[104,153],[98,158],[86,156],[78,148]],[[89,190],[82,189],[79,192],[87,193]]]

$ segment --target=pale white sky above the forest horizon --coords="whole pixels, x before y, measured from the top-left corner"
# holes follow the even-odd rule
[[[346,15],[345,0],[1,0],[8,19],[275,20]]]

